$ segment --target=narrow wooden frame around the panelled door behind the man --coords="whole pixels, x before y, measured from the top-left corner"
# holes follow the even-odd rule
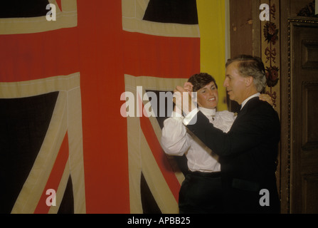
[[[289,1],[281,2],[281,154],[280,154],[280,197],[281,212],[292,213],[292,27],[297,24],[318,24],[318,19],[289,17]],[[285,35],[284,35],[285,34]],[[286,42],[287,40],[287,42]]]

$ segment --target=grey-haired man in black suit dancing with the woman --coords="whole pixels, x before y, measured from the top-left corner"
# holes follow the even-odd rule
[[[272,106],[258,98],[266,86],[263,62],[253,56],[228,60],[223,86],[230,100],[242,106],[228,133],[214,128],[192,101],[191,107],[183,107],[184,124],[220,156],[223,212],[279,213],[275,171],[280,120]],[[178,86],[175,92],[186,90]]]

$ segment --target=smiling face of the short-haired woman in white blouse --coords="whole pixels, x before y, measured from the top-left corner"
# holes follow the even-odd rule
[[[212,81],[197,91],[198,106],[214,109],[218,105],[218,88]]]

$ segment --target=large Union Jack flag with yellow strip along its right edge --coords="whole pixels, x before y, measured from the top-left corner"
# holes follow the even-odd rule
[[[205,22],[218,24],[212,46],[203,42],[212,33],[202,15],[223,12],[224,1],[203,2],[1,6],[1,213],[178,213],[184,175],[161,150],[163,119],[124,118],[120,97],[137,97],[137,86],[142,94],[171,91],[214,71],[203,49],[214,48],[223,64],[224,15]],[[56,21],[47,20],[48,4]],[[49,203],[47,190],[56,193]]]

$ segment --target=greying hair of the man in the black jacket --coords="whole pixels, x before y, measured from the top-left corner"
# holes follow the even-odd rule
[[[238,62],[238,72],[240,76],[254,78],[254,85],[258,93],[263,92],[267,86],[267,80],[265,75],[265,67],[261,58],[248,55],[240,55],[235,58],[228,59],[226,67],[230,63]]]

